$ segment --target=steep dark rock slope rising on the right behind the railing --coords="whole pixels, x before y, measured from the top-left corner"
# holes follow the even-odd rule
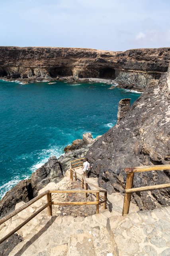
[[[159,82],[133,104],[131,110],[93,144],[86,155],[92,163],[92,176],[111,193],[123,193],[125,167],[170,164],[170,68]],[[134,187],[169,183],[168,171],[135,174]],[[170,189],[134,193],[140,209],[170,205]]]

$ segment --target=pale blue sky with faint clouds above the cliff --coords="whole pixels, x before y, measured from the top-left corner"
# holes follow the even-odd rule
[[[0,0],[0,46],[170,46],[170,0]]]

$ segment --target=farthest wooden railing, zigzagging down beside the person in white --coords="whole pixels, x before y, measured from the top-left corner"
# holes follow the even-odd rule
[[[74,181],[76,182],[77,179],[80,180],[82,183],[82,188],[84,188],[84,184],[85,184],[85,190],[79,190],[79,191],[82,191],[82,192],[86,191],[86,194],[85,194],[86,197],[88,193],[96,194],[96,202],[98,202],[98,204],[96,204],[96,213],[99,213],[100,204],[103,204],[103,209],[106,209],[107,190],[90,183],[89,181],[86,180],[86,178],[82,174],[76,171],[76,168],[80,168],[83,166],[83,160],[84,158],[70,161],[70,179],[72,180],[72,182]],[[93,186],[94,188],[96,188],[96,190],[88,190],[88,185]],[[102,196],[100,192],[104,193],[104,196]],[[100,197],[102,198],[102,200],[100,200]]]

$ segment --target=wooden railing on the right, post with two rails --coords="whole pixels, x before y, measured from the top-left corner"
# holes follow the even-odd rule
[[[153,186],[145,186],[145,187],[140,187],[140,188],[132,188],[135,172],[148,172],[148,171],[157,171],[157,170],[159,170],[159,171],[170,170],[170,164],[125,168],[125,172],[127,174],[127,180],[126,180],[126,188],[125,188],[125,196],[124,196],[122,215],[129,213],[129,207],[130,207],[132,193],[142,192],[142,191],[147,191],[147,190],[161,189],[161,188],[170,188],[170,183],[153,185]]]

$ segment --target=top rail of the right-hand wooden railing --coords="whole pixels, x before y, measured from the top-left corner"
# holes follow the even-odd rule
[[[126,173],[131,172],[149,172],[149,171],[163,171],[163,170],[170,170],[170,164],[161,164],[161,165],[151,165],[151,166],[138,166],[138,167],[131,167],[125,168]]]

